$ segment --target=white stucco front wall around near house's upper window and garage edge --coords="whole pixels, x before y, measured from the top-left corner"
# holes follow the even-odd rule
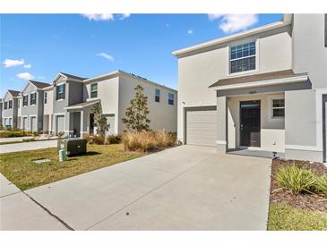
[[[239,39],[212,50],[178,58],[178,139],[184,134],[183,106],[215,106],[216,93],[208,87],[228,74],[229,46],[256,41],[257,69],[248,74],[288,70],[292,65],[290,26]],[[244,75],[244,74],[243,74]]]

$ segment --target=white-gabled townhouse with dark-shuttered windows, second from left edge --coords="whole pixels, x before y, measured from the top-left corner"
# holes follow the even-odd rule
[[[19,100],[18,125],[25,131],[43,131],[44,91],[49,84],[28,80]]]

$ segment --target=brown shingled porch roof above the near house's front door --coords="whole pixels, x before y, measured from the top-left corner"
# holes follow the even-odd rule
[[[259,73],[259,74],[247,75],[247,76],[242,76],[242,77],[220,79],[220,80],[217,80],[215,83],[211,84],[211,86],[209,86],[209,88],[213,88],[213,87],[217,87],[217,86],[224,86],[224,85],[232,85],[232,84],[237,84],[237,83],[260,81],[260,80],[285,79],[285,78],[297,77],[297,76],[304,75],[304,74],[306,74],[306,73],[296,74],[293,72],[293,70]]]

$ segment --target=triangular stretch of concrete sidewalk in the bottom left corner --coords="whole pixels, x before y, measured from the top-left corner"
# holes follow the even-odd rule
[[[0,230],[68,230],[0,173]]]

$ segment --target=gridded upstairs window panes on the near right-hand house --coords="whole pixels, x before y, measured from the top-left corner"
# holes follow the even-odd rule
[[[230,47],[230,73],[255,70],[255,42]]]

